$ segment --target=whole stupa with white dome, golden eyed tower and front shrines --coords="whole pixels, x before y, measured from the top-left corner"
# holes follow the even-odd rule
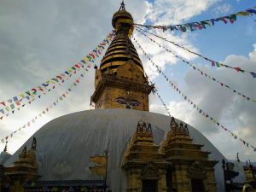
[[[131,42],[132,24],[122,3],[113,15],[115,38],[96,67],[96,109],[50,121],[4,158],[3,190],[104,191],[104,177],[90,171],[90,157],[107,149],[113,192],[224,191],[225,158],[207,137],[149,112],[154,85]]]

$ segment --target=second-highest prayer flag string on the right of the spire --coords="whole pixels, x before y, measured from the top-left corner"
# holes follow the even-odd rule
[[[137,30],[138,32],[140,32],[140,31],[148,32],[148,31],[143,30],[142,28],[137,27],[137,26],[136,26],[136,30]],[[247,71],[247,70],[241,69],[241,67],[231,67],[231,66],[225,65],[224,63],[217,62],[217,61],[213,61],[213,60],[207,58],[207,57],[204,56],[204,55],[200,55],[200,54],[198,54],[198,53],[195,53],[194,51],[189,50],[189,49],[183,47],[182,45],[179,45],[179,44],[177,44],[177,43],[175,43],[175,42],[173,42],[173,41],[167,40],[166,38],[160,37],[159,35],[156,35],[156,34],[154,34],[153,32],[148,32],[148,33],[151,34],[151,35],[153,35],[153,36],[156,37],[156,38],[161,38],[161,39],[163,39],[163,40],[166,41],[166,42],[169,42],[169,43],[171,43],[171,44],[174,44],[174,45],[177,46],[178,48],[187,50],[187,51],[188,51],[189,53],[191,53],[191,54],[200,56],[200,57],[203,58],[204,60],[211,62],[211,66],[212,66],[212,67],[226,67],[226,68],[234,69],[236,72],[241,72],[242,74],[249,73],[249,74],[253,77],[253,79],[256,79],[256,73],[255,73],[255,72],[251,72],[251,71]]]

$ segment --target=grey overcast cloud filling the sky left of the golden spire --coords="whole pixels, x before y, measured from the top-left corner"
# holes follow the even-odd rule
[[[148,13],[146,1],[131,0],[126,9],[134,20],[143,22]],[[108,1],[55,1],[3,0],[0,7],[0,92],[1,101],[22,91],[36,87],[63,73],[80,61],[112,30],[111,19],[119,3]],[[100,60],[96,62],[99,65]],[[70,86],[56,86],[46,96],[26,105],[14,115],[1,121],[0,138],[8,136],[35,118]],[[90,70],[81,83],[63,102],[9,139],[9,153],[20,148],[35,131],[61,115],[90,109],[90,96],[94,91],[94,70]],[[3,146],[4,147],[4,146]]]

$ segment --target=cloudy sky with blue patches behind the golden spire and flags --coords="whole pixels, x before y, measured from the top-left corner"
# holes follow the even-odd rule
[[[20,92],[32,89],[46,80],[63,73],[68,67],[84,58],[112,30],[113,13],[119,9],[116,0],[1,0],[0,1],[0,100],[6,101]],[[177,25],[207,20],[253,8],[253,0],[126,0],[125,8],[136,23],[147,25]],[[217,23],[195,32],[151,31],[184,47],[221,61],[232,67],[256,72],[256,16],[239,17],[234,24]],[[139,44],[161,67],[167,77],[189,96],[200,108],[234,131],[237,136],[256,146],[256,103],[248,102],[232,91],[201,76],[191,67],[168,54],[138,32],[134,32]],[[153,37],[152,37],[153,38]],[[211,67],[198,56],[189,54],[162,40],[177,55],[182,56],[205,73],[218,79],[251,98],[256,98],[255,80],[250,75],[236,73],[227,68]],[[167,84],[156,68],[135,47],[143,61],[145,72],[153,80],[160,96],[174,117],[201,131],[222,154],[235,159],[256,160],[256,152],[230,136],[209,119],[202,117]],[[96,61],[100,64],[100,60]],[[20,148],[38,129],[67,113],[90,110],[90,96],[94,91],[93,68],[85,74],[81,83],[55,108],[51,108],[30,127],[9,137],[10,154]],[[46,96],[21,108],[15,114],[0,121],[0,139],[10,135],[41,113],[73,83],[57,86]],[[155,95],[150,95],[150,111],[166,114]],[[0,150],[4,143],[0,143]]]

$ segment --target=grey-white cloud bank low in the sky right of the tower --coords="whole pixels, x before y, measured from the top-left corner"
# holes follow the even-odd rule
[[[253,44],[253,51],[248,57],[241,55],[228,55],[223,61],[225,64],[233,67],[241,67],[248,71],[256,71],[256,49]],[[210,74],[212,77],[219,79],[221,82],[230,84],[234,89],[256,98],[256,84],[250,74],[245,75],[236,73],[236,71],[212,67],[200,67],[202,71]],[[255,145],[256,131],[256,108],[255,103],[248,102],[241,96],[236,96],[229,89],[224,89],[213,81],[206,79],[199,73],[190,69],[185,75],[184,93],[195,102],[200,108],[209,113],[218,122],[226,126],[230,131],[237,134],[238,137],[246,140],[248,143]],[[182,119],[189,125],[207,135],[208,138],[218,148],[227,155],[228,158],[234,159],[234,148],[241,154],[253,159],[251,148],[242,148],[239,139],[233,139],[228,131],[219,129],[216,125],[202,117],[195,109],[189,108],[189,103],[184,101],[170,102],[168,104],[172,115],[177,119]],[[160,113],[165,109],[159,105],[151,105],[154,112]],[[221,138],[224,138],[221,139]],[[227,144],[230,143],[230,144]],[[235,147],[237,146],[237,147]]]

